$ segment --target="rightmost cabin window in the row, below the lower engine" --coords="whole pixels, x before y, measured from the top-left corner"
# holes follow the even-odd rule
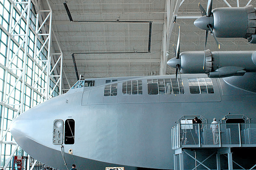
[[[213,84],[210,78],[188,79],[191,94],[211,94],[214,93]]]

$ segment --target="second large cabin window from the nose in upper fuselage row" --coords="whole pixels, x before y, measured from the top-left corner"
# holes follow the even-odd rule
[[[142,80],[129,80],[123,82],[122,93],[125,95],[142,94]]]

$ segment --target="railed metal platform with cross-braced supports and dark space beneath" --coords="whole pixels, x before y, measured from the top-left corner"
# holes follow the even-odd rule
[[[256,167],[256,124],[179,123],[172,128],[174,170],[249,169]],[[215,134],[214,134],[215,133]]]

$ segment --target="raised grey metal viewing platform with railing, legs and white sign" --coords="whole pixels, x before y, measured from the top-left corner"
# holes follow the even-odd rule
[[[182,120],[172,128],[172,149],[175,150],[173,155],[174,170],[184,170],[184,154],[195,160],[196,166],[194,169],[202,165],[204,168],[211,170],[209,167],[212,167],[212,164],[207,165],[206,160],[213,155],[216,155],[216,169],[222,169],[221,154],[224,154],[227,158],[229,170],[233,170],[234,164],[241,169],[245,169],[233,161],[231,151],[237,148],[256,147],[255,123],[217,123],[213,125],[211,123],[192,123],[192,120],[190,122]],[[194,154],[191,153],[192,151]],[[212,152],[208,157],[199,158],[196,156],[196,153],[202,155],[208,152]],[[250,170],[254,167],[256,165],[252,166]]]

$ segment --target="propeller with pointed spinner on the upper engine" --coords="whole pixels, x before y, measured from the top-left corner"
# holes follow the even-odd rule
[[[196,26],[199,26],[199,25],[201,26],[204,23],[206,23],[205,21],[208,20],[208,24],[206,25],[206,28],[205,28],[206,31],[205,31],[204,64],[203,64],[203,69],[205,69],[205,50],[206,50],[206,44],[207,44],[207,38],[208,38],[208,31],[211,32],[211,35],[214,37],[214,40],[215,40],[216,44],[218,45],[219,49],[220,49],[220,43],[218,42],[218,40],[217,40],[213,30],[212,30],[212,25],[213,25],[213,22],[211,22],[211,20],[213,21],[213,16],[211,16],[212,0],[208,0],[207,11],[206,12],[205,12],[204,8],[202,7],[202,5],[200,3],[198,4],[198,6],[199,6],[199,9],[201,11],[202,17],[199,20],[196,20],[194,22],[194,24]],[[211,17],[211,18],[208,18],[208,17]]]

